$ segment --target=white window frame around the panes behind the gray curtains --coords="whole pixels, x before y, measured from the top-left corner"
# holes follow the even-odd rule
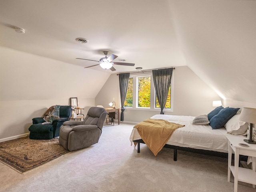
[[[150,108],[149,107],[137,107],[138,106],[138,77],[150,77]],[[144,110],[144,111],[161,111],[160,108],[155,107],[156,91],[154,86],[154,79],[152,72],[130,74],[133,79],[133,95],[132,95],[132,107],[125,107],[128,110]],[[134,91],[136,90],[136,92]],[[153,96],[152,96],[153,95]],[[172,71],[171,79],[171,108],[164,108],[164,112],[173,112],[173,99],[174,99],[174,71]]]

